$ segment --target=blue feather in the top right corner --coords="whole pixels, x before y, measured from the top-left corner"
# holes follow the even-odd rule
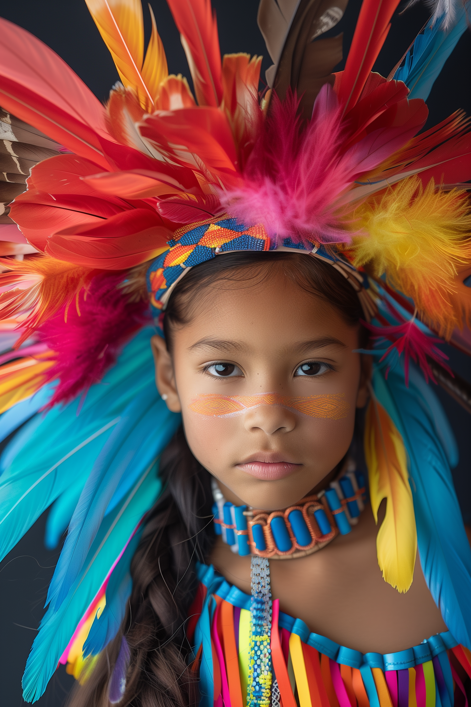
[[[409,98],[427,100],[431,87],[439,76],[446,59],[467,30],[471,3],[458,6],[455,21],[448,30],[441,21],[429,22],[423,34],[417,35],[414,44],[406,54],[403,66],[395,72],[397,81],[404,81],[410,90]]]

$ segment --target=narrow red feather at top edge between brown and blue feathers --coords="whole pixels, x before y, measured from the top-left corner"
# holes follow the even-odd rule
[[[390,28],[399,0],[364,0],[354,31],[338,97],[344,111],[357,103]]]

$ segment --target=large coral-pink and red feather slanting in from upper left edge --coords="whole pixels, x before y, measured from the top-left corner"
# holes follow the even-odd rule
[[[40,40],[0,18],[0,103],[71,151],[107,169],[99,136],[105,109],[85,83]]]

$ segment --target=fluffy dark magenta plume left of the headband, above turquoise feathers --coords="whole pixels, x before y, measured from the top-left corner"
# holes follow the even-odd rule
[[[48,380],[59,379],[48,407],[100,382],[132,334],[150,322],[148,300],[130,303],[119,288],[123,280],[122,273],[96,276],[86,296],[79,296],[80,316],[72,304],[66,322],[63,308],[38,330],[40,341],[54,351]]]

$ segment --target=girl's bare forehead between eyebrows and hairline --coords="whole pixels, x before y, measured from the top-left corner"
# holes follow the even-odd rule
[[[325,299],[282,272],[242,281],[217,281],[189,299],[188,325],[175,332],[186,347],[202,339],[239,341],[250,349],[280,349],[294,341],[331,338],[350,342],[357,327],[345,323]],[[344,341],[345,340],[345,341]]]

